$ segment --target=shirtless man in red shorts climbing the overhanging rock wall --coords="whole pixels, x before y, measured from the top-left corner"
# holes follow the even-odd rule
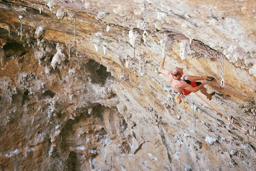
[[[166,60],[166,57],[163,58],[160,67],[159,72],[167,76],[168,82],[170,83],[171,87],[178,93],[182,93],[184,95],[188,95],[191,92],[196,92],[198,90],[201,91],[202,94],[204,94],[207,99],[211,100],[211,97],[215,94],[213,93],[207,93],[205,88],[203,87],[205,84],[208,84],[208,81],[213,81],[213,77],[195,77],[191,75],[184,75],[184,80],[182,80],[183,71],[182,68],[174,68],[173,71],[169,71],[167,69],[164,69],[164,61]],[[196,82],[197,80],[204,80],[201,82]]]

